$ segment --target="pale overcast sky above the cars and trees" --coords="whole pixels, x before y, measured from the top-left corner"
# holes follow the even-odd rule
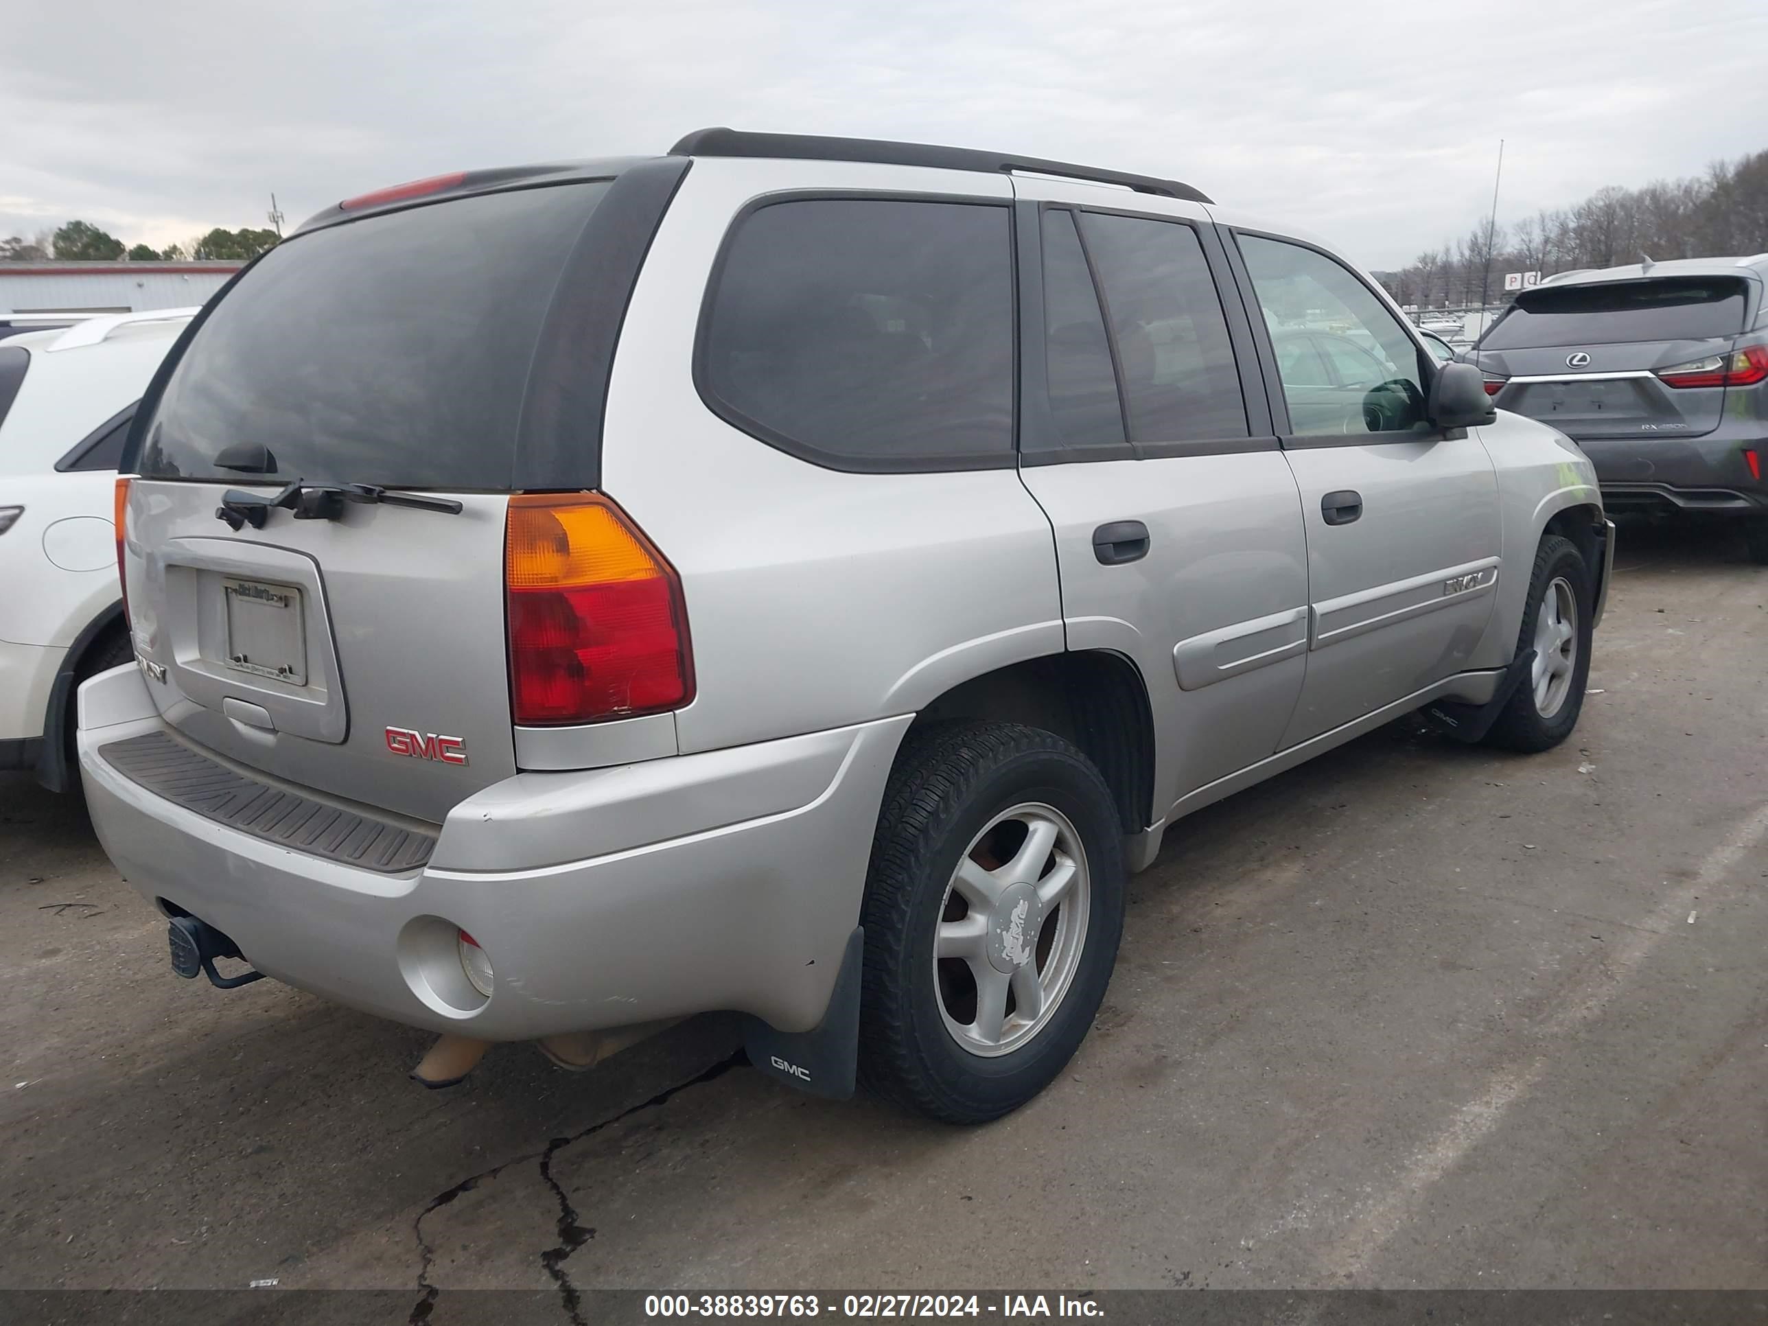
[[[5,0],[0,235],[164,246],[688,129],[1190,180],[1397,267],[1768,147],[1768,0]]]

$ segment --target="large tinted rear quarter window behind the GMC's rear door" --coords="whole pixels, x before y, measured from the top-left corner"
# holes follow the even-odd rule
[[[739,428],[857,469],[1013,451],[1006,207],[812,198],[725,249],[702,389]]]

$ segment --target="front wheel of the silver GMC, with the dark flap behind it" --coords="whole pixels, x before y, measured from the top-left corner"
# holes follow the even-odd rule
[[[1517,656],[1536,651],[1535,667],[1510,695],[1485,741],[1503,750],[1552,750],[1577,727],[1589,679],[1589,564],[1570,539],[1549,534],[1535,552]]]

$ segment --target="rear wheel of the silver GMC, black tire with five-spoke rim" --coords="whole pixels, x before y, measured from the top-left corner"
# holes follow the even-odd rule
[[[1017,723],[911,732],[872,843],[859,1078],[948,1123],[1047,1087],[1080,1047],[1123,934],[1105,780]]]

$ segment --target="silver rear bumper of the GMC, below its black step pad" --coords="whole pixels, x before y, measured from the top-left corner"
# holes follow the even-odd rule
[[[81,688],[78,744],[99,840],[161,911],[217,926],[258,971],[325,999],[527,1040],[711,1010],[815,1027],[909,721],[518,774],[456,806],[405,875],[279,847],[120,774],[104,748],[164,730],[133,667]],[[461,979],[458,928],[493,964],[490,999]]]

